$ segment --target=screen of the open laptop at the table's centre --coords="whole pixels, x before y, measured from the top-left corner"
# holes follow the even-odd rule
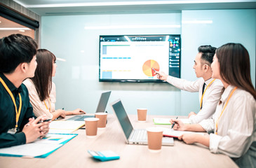
[[[123,128],[124,134],[126,134],[126,139],[129,138],[130,133],[133,131],[133,125],[130,123],[130,120],[127,116],[125,109],[123,108],[123,104],[121,100],[112,105],[114,112],[116,113],[117,118],[119,119],[119,123]]]

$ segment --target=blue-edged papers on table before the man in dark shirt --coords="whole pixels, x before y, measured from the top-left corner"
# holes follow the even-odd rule
[[[77,134],[47,134],[43,139],[8,148],[0,148],[0,156],[22,157],[22,158],[46,158],[58,148],[70,141]]]

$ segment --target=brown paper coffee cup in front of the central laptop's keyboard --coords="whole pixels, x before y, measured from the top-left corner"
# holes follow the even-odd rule
[[[158,153],[161,151],[163,139],[163,129],[161,127],[147,128],[147,141],[149,151]]]

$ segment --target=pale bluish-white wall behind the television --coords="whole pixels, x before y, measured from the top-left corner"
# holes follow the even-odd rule
[[[128,113],[146,107],[151,114],[187,115],[198,111],[198,93],[181,92],[167,83],[99,83],[99,36],[111,34],[182,34],[181,76],[195,80],[194,57],[199,45],[216,47],[239,42],[249,50],[255,85],[256,10],[185,10],[182,13],[128,15],[43,16],[41,48],[58,61],[53,79],[58,109],[81,108],[94,113],[101,92],[112,90],[109,102],[121,98]],[[184,24],[184,20],[213,20],[213,24]],[[88,26],[182,25],[181,28],[94,29]],[[254,61],[253,61],[254,60]],[[254,70],[253,70],[254,69]],[[109,107],[107,111],[112,113]]]

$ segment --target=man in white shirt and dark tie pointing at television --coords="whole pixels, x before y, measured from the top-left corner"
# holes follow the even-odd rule
[[[157,77],[166,80],[171,85],[189,92],[199,92],[200,111],[189,113],[189,120],[192,124],[200,123],[204,119],[211,118],[215,112],[217,103],[220,101],[223,85],[218,79],[213,79],[210,64],[213,62],[215,47],[211,45],[201,45],[198,47],[198,54],[194,60],[196,81],[188,81],[173,76],[168,76],[163,72],[156,72]]]

